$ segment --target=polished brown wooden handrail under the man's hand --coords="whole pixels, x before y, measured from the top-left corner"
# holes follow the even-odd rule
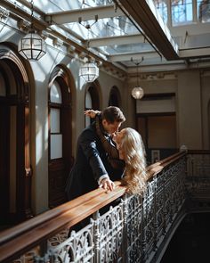
[[[149,178],[158,174],[184,154],[186,152],[178,152],[165,160],[150,165],[148,167]],[[114,191],[98,188],[1,232],[0,262],[10,262],[12,259],[18,258],[53,234],[57,234],[66,227],[76,225],[111,201],[123,196],[126,187],[121,185],[119,181],[115,182],[115,185]]]

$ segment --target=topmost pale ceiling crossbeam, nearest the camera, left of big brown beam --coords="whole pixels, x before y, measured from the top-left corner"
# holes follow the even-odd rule
[[[45,21],[50,24],[61,25],[66,23],[78,22],[79,19],[80,21],[94,21],[96,15],[98,16],[98,19],[104,19],[122,15],[124,16],[125,14],[120,9],[116,10],[114,4],[110,4],[84,9],[47,13],[45,16]]]

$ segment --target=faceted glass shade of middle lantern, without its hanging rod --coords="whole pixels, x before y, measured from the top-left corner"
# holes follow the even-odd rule
[[[93,82],[99,77],[99,68],[93,62],[87,62],[79,69],[79,76],[85,79],[85,82]]]

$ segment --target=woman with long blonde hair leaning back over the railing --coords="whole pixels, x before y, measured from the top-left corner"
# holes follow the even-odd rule
[[[97,123],[100,118],[100,111],[88,110],[85,111],[85,115],[91,118],[96,117]],[[102,140],[103,136],[99,133],[98,136]],[[125,172],[122,181],[127,186],[127,193],[142,194],[146,189],[147,172],[145,150],[141,135],[133,128],[125,127],[116,134],[113,134],[112,138],[117,145],[118,159],[125,161]],[[114,150],[113,147],[111,150]],[[114,152],[115,156],[113,159],[116,160],[115,151],[108,150],[107,152],[110,154],[110,160],[112,160],[111,152]]]

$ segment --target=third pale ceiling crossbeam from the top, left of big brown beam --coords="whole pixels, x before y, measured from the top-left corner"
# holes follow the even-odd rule
[[[128,62],[133,60],[141,60],[142,58],[145,60],[150,58],[161,58],[159,54],[155,51],[141,52],[141,53],[117,53],[114,55],[109,55],[110,62]]]

